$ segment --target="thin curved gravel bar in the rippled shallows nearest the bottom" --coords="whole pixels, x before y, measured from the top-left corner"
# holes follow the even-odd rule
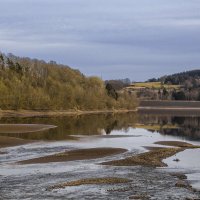
[[[80,186],[80,185],[89,185],[89,184],[116,184],[116,183],[128,183],[131,180],[127,178],[117,178],[117,177],[105,177],[105,178],[88,178],[80,179],[76,181],[70,181],[66,183],[61,183],[50,187],[50,190],[61,189],[69,186]]]

